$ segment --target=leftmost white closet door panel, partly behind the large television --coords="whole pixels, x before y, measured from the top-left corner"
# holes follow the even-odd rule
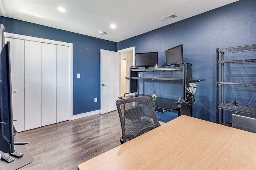
[[[10,42],[11,76],[12,76],[12,114],[15,129],[24,131],[24,40],[6,38]]]

